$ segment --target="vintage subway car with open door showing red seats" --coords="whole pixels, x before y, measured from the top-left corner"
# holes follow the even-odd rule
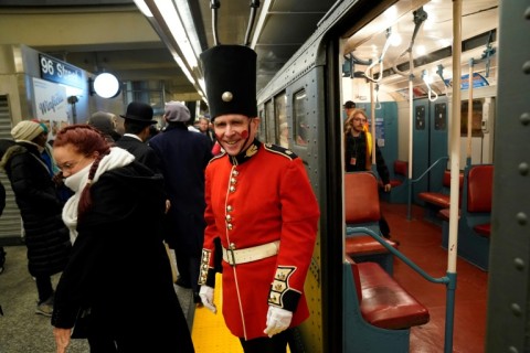
[[[321,207],[298,351],[530,350],[529,9],[339,1],[258,93],[261,140],[304,160]],[[395,181],[379,200],[344,172],[347,100]],[[350,214],[373,203],[390,242]]]

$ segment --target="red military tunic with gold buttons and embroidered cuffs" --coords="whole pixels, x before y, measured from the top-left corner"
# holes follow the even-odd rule
[[[309,317],[304,281],[320,215],[301,160],[257,140],[237,157],[206,168],[206,229],[201,285],[212,286],[214,238],[226,249],[279,240],[277,255],[232,266],[223,260],[223,315],[230,331],[266,336],[268,306],[294,312],[292,327]]]

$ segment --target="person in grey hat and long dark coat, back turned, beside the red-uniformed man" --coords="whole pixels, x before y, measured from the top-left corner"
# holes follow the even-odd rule
[[[190,110],[183,104],[169,101],[163,118],[166,130],[149,140],[158,154],[166,191],[171,202],[167,217],[167,243],[177,255],[177,285],[192,288],[199,298],[199,266],[204,239],[204,169],[212,158],[205,135],[189,131]]]

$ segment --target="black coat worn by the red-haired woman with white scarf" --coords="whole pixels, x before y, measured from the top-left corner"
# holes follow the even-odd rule
[[[192,352],[162,243],[163,180],[144,164],[104,172],[78,218],[71,260],[55,292],[52,324],[72,328],[91,309],[91,329],[120,352]]]

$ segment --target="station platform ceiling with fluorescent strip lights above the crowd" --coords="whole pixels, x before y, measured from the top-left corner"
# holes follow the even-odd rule
[[[153,17],[146,17],[132,0],[1,0],[0,44],[25,44],[91,73],[113,72],[120,81],[163,82],[171,99],[199,100],[203,87],[197,62],[202,51],[214,45],[211,2],[147,0]],[[250,36],[258,57],[258,89],[315,32],[335,2],[259,1]],[[243,44],[250,3],[255,1],[219,3],[219,43]],[[188,20],[189,40],[173,35],[169,18],[162,15],[170,12],[163,8],[168,4],[172,10],[179,7],[180,17]],[[193,42],[191,60],[180,47],[188,42]],[[190,75],[179,67],[179,56]]]

